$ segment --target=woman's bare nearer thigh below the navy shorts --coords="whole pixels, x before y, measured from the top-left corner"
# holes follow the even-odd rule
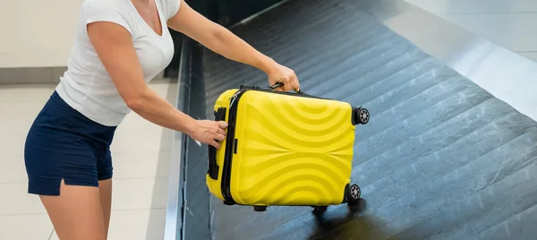
[[[60,239],[107,239],[97,187],[66,185],[62,180],[59,196],[40,195],[40,199]]]

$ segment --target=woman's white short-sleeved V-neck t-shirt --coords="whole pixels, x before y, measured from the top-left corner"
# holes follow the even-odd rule
[[[132,43],[140,60],[146,82],[170,64],[174,42],[166,21],[179,10],[180,0],[155,0],[162,26],[162,36],[141,18],[131,0],[85,0],[67,71],[56,91],[71,107],[98,124],[115,126],[131,112],[115,89],[90,42],[86,26],[95,21],[112,21],[132,34]]]

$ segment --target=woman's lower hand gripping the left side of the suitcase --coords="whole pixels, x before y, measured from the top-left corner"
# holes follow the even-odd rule
[[[192,139],[220,148],[218,141],[226,139],[227,123],[224,121],[196,120],[196,126],[190,134]]]

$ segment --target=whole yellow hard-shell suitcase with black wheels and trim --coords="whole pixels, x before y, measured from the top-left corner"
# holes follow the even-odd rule
[[[220,149],[209,146],[209,192],[256,211],[356,204],[354,129],[368,123],[368,110],[274,87],[241,86],[217,99],[215,120],[228,127]]]

